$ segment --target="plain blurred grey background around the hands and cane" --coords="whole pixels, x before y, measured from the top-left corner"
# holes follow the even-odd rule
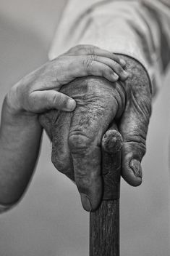
[[[63,7],[59,0],[0,0],[1,103],[17,80],[48,59]],[[169,255],[169,81],[170,74],[153,103],[143,184],[131,188],[122,180],[121,256]],[[50,157],[44,135],[27,193],[0,216],[0,256],[88,256],[89,215]]]

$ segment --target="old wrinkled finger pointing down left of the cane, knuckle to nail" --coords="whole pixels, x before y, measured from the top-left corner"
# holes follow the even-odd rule
[[[88,212],[98,206],[102,194],[101,148],[93,143],[90,147],[89,144],[88,137],[83,135],[69,137],[75,183],[80,192],[82,206]]]

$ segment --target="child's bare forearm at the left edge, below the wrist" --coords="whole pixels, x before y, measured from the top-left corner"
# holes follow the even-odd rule
[[[6,97],[0,127],[0,204],[14,204],[24,193],[38,158],[41,135],[37,115],[12,113]]]

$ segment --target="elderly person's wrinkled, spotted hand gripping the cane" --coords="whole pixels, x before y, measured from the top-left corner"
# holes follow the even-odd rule
[[[140,63],[122,57],[131,74],[126,81],[112,83],[93,76],[75,79],[60,90],[76,100],[75,111],[49,111],[40,116],[52,141],[51,161],[59,172],[75,180],[87,211],[101,201],[101,139],[114,120],[124,139],[122,177],[130,185],[142,183],[140,162],[151,113],[150,83]]]

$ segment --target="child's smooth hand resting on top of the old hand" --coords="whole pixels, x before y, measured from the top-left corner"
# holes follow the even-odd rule
[[[73,111],[75,100],[59,92],[62,85],[82,76],[102,76],[124,81],[124,60],[90,45],[79,45],[25,76],[12,87],[8,103],[14,111],[42,113],[51,108]]]

